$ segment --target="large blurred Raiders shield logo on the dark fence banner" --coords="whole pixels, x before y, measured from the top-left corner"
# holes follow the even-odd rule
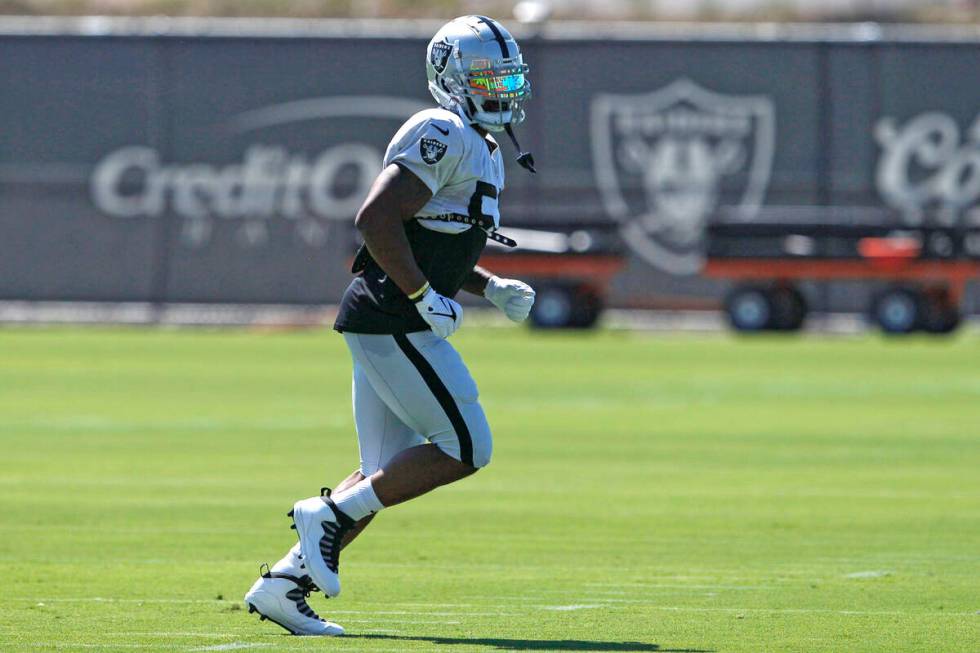
[[[719,207],[749,219],[769,185],[775,112],[764,96],[721,95],[687,79],[592,101],[592,161],[626,243],[671,274],[695,274]]]

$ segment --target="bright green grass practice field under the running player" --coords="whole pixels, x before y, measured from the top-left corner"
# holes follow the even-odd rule
[[[495,458],[242,609],[357,460],[323,331],[0,330],[0,651],[980,651],[980,338],[469,329]]]

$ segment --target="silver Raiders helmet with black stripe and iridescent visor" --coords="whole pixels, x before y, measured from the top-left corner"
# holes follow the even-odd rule
[[[425,71],[439,106],[459,107],[488,131],[524,120],[528,67],[517,41],[492,18],[462,16],[443,25],[429,41]]]

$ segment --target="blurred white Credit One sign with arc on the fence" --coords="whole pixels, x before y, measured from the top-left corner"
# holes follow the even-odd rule
[[[182,219],[181,241],[201,246],[213,221],[238,220],[239,242],[261,246],[272,220],[291,221],[308,245],[322,246],[329,221],[349,220],[381,169],[383,147],[399,125],[428,105],[386,96],[341,96],[289,102],[232,117],[227,137],[244,138],[241,159],[229,164],[168,163],[146,145],[130,145],[95,166],[90,191],[102,213],[115,218]],[[387,121],[384,132],[364,121]],[[343,139],[312,154],[275,144],[275,130],[330,121]],[[358,123],[362,123],[358,128]]]

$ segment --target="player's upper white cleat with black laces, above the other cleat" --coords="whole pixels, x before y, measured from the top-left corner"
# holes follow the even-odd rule
[[[288,515],[299,536],[306,569],[324,594],[340,594],[340,544],[354,520],[337,508],[329,496],[297,501]]]

